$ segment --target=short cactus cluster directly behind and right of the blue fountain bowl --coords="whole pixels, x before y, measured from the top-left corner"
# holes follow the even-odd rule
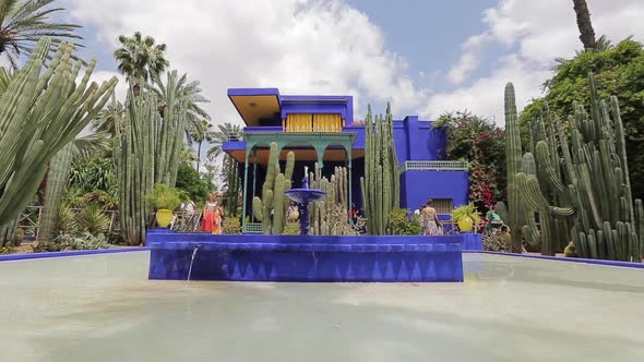
[[[348,226],[348,177],[345,167],[336,167],[331,180],[319,179],[318,162],[315,169],[309,173],[309,188],[324,191],[324,197],[309,205],[309,218],[313,236],[344,236],[353,234]]]

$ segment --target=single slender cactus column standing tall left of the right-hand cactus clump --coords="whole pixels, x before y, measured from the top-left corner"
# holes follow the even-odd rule
[[[523,212],[515,176],[521,171],[522,152],[518,116],[512,83],[505,85],[505,159],[508,165],[508,225],[512,230],[512,252],[521,253],[523,250],[521,244]]]

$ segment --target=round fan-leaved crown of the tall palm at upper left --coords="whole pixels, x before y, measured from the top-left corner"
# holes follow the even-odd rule
[[[151,36],[143,37],[136,32],[132,37],[119,36],[119,43],[121,47],[114,52],[119,62],[117,69],[136,92],[140,84],[162,73],[170,64],[165,58],[166,45],[156,45]]]

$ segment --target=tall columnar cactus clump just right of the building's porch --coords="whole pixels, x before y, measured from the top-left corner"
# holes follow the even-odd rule
[[[391,105],[386,107],[385,117],[377,116],[375,122],[369,106],[366,122],[365,177],[360,178],[360,186],[367,214],[367,231],[370,234],[385,234],[387,215],[398,208],[401,202]]]

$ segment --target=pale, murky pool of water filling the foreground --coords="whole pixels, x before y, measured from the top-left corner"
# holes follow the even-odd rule
[[[0,361],[644,360],[644,269],[464,254],[455,283],[187,283],[148,260],[0,263]]]

